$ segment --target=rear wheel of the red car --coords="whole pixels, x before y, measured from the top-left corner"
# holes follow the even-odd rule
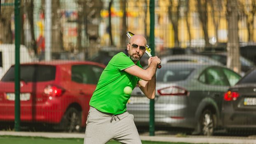
[[[74,107],[67,109],[61,121],[61,127],[66,132],[80,132],[81,112]]]

